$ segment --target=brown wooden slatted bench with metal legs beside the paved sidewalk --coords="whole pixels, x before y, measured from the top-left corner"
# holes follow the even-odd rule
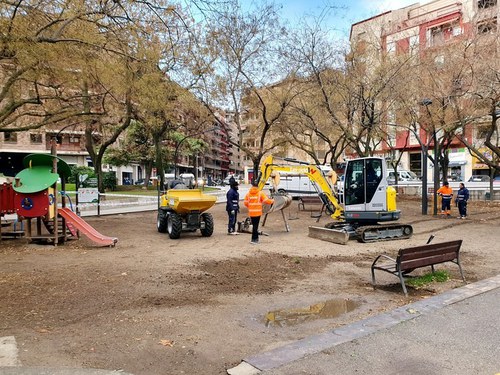
[[[434,272],[434,265],[445,262],[452,262],[458,265],[462,280],[465,282],[459,257],[461,246],[462,240],[456,240],[403,248],[399,250],[396,259],[381,254],[377,256],[372,263],[372,284],[375,287],[375,270],[389,272],[399,277],[403,292],[405,296],[408,296],[404,281],[405,275],[416,268],[427,266],[430,266],[432,272]],[[378,262],[380,259],[385,260],[385,262],[379,264]]]

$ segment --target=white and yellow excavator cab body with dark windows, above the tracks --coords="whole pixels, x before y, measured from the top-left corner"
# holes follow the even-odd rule
[[[382,158],[349,160],[344,177],[344,204],[347,221],[380,222],[399,219],[396,192],[387,183]]]

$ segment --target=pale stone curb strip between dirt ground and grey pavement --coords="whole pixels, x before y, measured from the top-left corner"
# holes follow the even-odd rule
[[[306,337],[294,343],[257,354],[227,370],[229,375],[257,375],[281,367],[303,357],[370,335],[416,317],[430,314],[443,307],[500,288],[500,275],[443,294],[414,302],[322,334]]]

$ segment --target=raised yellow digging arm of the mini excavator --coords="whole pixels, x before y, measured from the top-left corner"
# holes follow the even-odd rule
[[[282,159],[275,159],[272,155],[266,157],[261,164],[259,173],[259,190],[262,190],[269,178],[278,185],[279,172],[298,173],[306,175],[313,181],[318,189],[318,195],[325,204],[327,212],[335,220],[343,220],[344,208],[339,204],[337,195],[332,185],[323,175],[321,170],[313,164],[285,164]],[[335,173],[335,172],[333,172]],[[332,184],[335,184],[336,175],[331,178]]]

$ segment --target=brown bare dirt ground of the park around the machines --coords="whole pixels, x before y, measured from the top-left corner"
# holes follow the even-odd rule
[[[389,274],[378,274],[381,286],[372,288],[376,255],[423,244],[430,234],[463,239],[468,282],[498,273],[498,205],[470,202],[467,220],[456,219],[456,209],[450,219],[422,216],[417,200],[400,199],[399,208],[413,237],[375,244],[308,237],[315,219],[296,202],[285,211],[290,232],[272,214],[258,246],[249,234],[226,234],[223,204],[211,209],[209,238],[170,240],[157,232],[156,213],[145,212],[86,218],[118,237],[114,248],[85,238],[57,247],[2,241],[0,336],[15,336],[24,366],[225,374],[247,356],[463,285],[448,263],[437,268],[451,280],[410,288],[408,298]],[[329,221],[323,216],[319,225]],[[318,310],[342,302],[352,311]]]

